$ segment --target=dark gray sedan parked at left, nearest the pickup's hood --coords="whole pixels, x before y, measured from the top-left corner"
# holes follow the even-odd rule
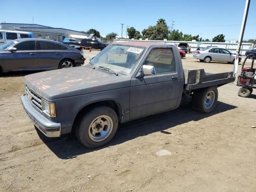
[[[81,64],[83,52],[52,40],[24,38],[0,46],[0,72],[52,70]]]

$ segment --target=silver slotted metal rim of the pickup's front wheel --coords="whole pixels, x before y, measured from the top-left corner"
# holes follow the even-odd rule
[[[112,119],[107,115],[101,115],[91,122],[88,133],[91,140],[99,142],[108,138],[112,130]]]

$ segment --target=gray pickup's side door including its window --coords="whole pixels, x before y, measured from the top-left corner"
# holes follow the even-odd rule
[[[143,65],[154,66],[156,75],[132,77],[130,119],[171,110],[178,102],[180,74],[173,50],[152,48]]]

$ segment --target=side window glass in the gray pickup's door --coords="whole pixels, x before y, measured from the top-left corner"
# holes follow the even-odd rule
[[[156,74],[175,72],[175,60],[172,49],[156,48],[153,49],[144,65],[154,66]]]

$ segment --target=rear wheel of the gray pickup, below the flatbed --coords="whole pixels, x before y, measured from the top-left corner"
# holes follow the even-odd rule
[[[210,113],[218,101],[218,89],[208,87],[195,90],[192,96],[192,108],[201,113]]]

